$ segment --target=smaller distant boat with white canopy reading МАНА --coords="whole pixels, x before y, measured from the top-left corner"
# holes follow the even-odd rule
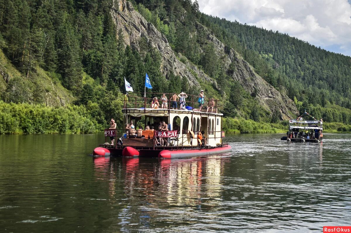
[[[314,118],[313,120],[302,120],[301,117],[298,117],[296,120],[290,120],[289,131],[280,140],[288,142],[321,142],[323,140],[322,124],[322,119],[320,121]]]

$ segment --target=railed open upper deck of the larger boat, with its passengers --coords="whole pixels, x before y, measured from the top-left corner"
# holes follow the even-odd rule
[[[163,94],[165,96],[163,97]],[[124,112],[134,113],[154,113],[167,114],[173,113],[206,113],[213,115],[223,115],[220,110],[223,109],[221,101],[214,98],[194,96],[190,94],[176,94],[176,101],[171,100],[175,93],[147,93],[148,97],[142,97],[144,93],[132,93],[124,96]],[[183,95],[182,95],[183,94]],[[183,96],[185,104],[180,101]],[[166,97],[166,98],[165,98]],[[157,98],[157,99],[156,99]],[[202,100],[202,101],[201,101]],[[201,108],[202,105],[202,108]]]

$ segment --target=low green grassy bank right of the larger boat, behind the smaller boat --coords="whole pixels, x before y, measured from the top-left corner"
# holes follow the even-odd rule
[[[223,118],[223,130],[226,133],[286,133],[288,121],[278,123],[256,122],[243,118]],[[325,133],[351,133],[351,125],[341,122],[324,122]]]

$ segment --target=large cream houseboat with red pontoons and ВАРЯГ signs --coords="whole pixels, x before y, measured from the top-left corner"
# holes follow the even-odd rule
[[[160,98],[162,94],[152,96]],[[199,109],[198,97],[185,94],[186,105],[179,108],[178,101],[178,106],[172,108],[172,95],[165,94],[168,103],[164,101],[164,108],[155,98],[126,96],[122,109],[125,128],[105,129],[105,144],[99,144],[93,155],[186,158],[232,151],[223,141],[223,114],[218,112],[218,100],[209,99],[213,107],[204,104]],[[109,144],[110,137],[115,138],[113,145]]]

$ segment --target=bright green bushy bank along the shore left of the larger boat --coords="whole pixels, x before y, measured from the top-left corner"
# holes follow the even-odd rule
[[[0,134],[78,134],[101,129],[84,106],[47,107],[0,101]]]

